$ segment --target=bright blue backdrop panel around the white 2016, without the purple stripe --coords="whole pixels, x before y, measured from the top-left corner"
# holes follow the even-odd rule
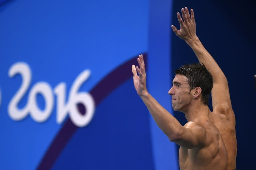
[[[127,61],[142,53],[147,57],[149,44],[154,45],[157,36],[150,35],[149,30],[154,30],[155,26],[151,26],[149,20],[154,23],[162,18],[166,31],[163,36],[165,42],[169,42],[171,1],[161,3],[157,10],[154,4],[158,3],[15,0],[1,4],[0,169],[177,168],[174,143],[156,127],[134,90],[131,65],[137,64],[136,59],[123,72],[107,79],[111,82],[105,82],[116,84],[116,89],[101,86],[100,92],[93,91],[99,84],[104,85],[104,78]],[[158,15],[162,9],[165,13]],[[166,45],[165,50],[169,51]],[[162,60],[169,61],[169,55],[165,52]],[[149,63],[154,63],[156,59],[151,58]],[[32,74],[30,86],[18,104],[20,109],[26,105],[28,94],[37,82],[48,83],[52,90],[64,82],[68,98],[75,78],[85,69],[89,69],[91,75],[80,92],[93,91],[100,96],[100,93],[105,94],[104,89],[112,91],[97,103],[92,121],[82,128],[74,130],[74,126],[66,126],[70,122],[68,116],[62,124],[56,123],[56,96],[53,111],[45,122],[37,123],[30,115],[14,121],[7,107],[22,78],[20,75],[8,77],[8,70],[19,61],[27,63]],[[168,71],[169,63],[166,63]],[[119,82],[123,76],[126,79]],[[166,89],[170,87],[169,79],[168,74],[159,79],[167,82],[163,83]],[[153,88],[153,84],[149,84],[149,88]],[[99,96],[93,97],[96,100]],[[161,99],[164,98],[170,108],[170,97],[165,94]],[[44,109],[41,95],[37,96],[37,104]],[[65,130],[71,135],[61,140]],[[61,146],[58,151],[53,148],[56,141]]]

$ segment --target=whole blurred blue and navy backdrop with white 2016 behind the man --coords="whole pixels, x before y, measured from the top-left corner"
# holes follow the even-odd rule
[[[184,125],[167,92],[174,70],[197,62],[170,29],[185,6],[229,82],[237,169],[251,169],[256,36],[247,0],[1,0],[0,169],[179,169],[178,146],[136,94],[131,65],[143,54],[149,92]]]

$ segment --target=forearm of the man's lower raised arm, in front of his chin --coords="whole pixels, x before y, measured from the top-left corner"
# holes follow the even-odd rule
[[[158,127],[174,141],[180,136],[183,126],[165,110],[148,92],[140,96]]]

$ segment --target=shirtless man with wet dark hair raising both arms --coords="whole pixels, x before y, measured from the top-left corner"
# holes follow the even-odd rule
[[[180,30],[173,25],[172,30],[192,48],[200,63],[177,69],[168,93],[173,109],[183,112],[188,123],[182,126],[149,94],[142,55],[137,59],[139,67],[132,66],[134,87],[159,128],[180,146],[181,170],[234,170],[235,115],[227,79],[196,36],[194,11],[191,9],[191,16],[187,7],[181,12],[182,17],[177,13]],[[213,112],[208,107],[210,92]]]

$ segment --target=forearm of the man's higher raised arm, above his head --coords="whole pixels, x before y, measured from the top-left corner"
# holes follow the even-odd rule
[[[205,67],[210,71],[213,76],[214,82],[223,82],[223,80],[226,80],[226,77],[222,72],[221,68],[210,55],[210,53],[204,48],[203,44],[200,42],[197,36],[190,40],[186,40],[186,43],[194,51],[199,62],[203,63]]]

